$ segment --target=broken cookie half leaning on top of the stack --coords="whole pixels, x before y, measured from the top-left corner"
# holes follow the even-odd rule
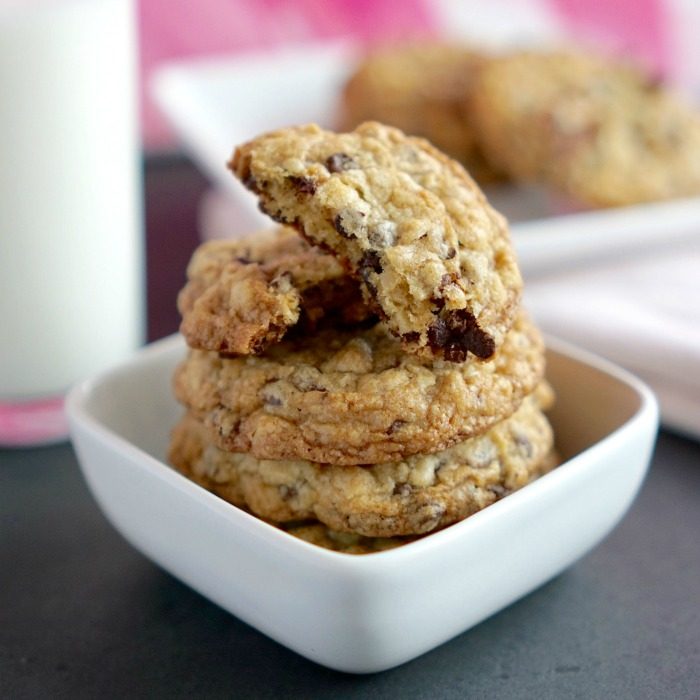
[[[505,219],[427,141],[376,122],[283,129],[240,146],[233,172],[276,221],[338,255],[405,349],[486,359],[522,280]]]

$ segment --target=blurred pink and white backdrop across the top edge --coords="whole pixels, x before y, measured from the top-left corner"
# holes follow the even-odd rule
[[[673,83],[700,90],[694,0],[138,0],[138,12],[149,150],[177,147],[148,87],[162,65],[319,39],[350,36],[372,45],[443,37],[509,46],[573,38],[635,56]]]

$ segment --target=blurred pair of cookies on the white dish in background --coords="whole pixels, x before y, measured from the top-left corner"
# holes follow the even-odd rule
[[[538,183],[606,207],[700,194],[700,114],[629,61],[583,51],[503,55],[440,42],[375,50],[341,95],[428,138],[482,184]]]

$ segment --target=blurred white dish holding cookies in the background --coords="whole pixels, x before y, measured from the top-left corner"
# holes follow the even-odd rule
[[[156,102],[194,160],[237,205],[237,216],[230,222],[232,235],[270,225],[258,211],[256,198],[226,169],[233,147],[290,124],[318,122],[332,128],[340,89],[357,56],[347,42],[305,44],[182,61],[156,73]],[[700,228],[700,197],[562,213],[566,205],[537,188],[501,187],[487,194],[512,222],[526,274],[668,245],[696,236]]]

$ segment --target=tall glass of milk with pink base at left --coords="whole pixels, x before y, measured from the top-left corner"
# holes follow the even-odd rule
[[[0,445],[144,337],[131,0],[0,0]]]

